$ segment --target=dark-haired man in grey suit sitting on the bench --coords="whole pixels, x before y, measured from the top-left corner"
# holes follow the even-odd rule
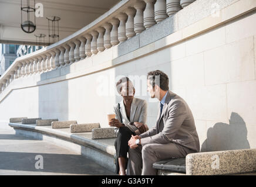
[[[160,110],[155,127],[129,140],[133,175],[156,175],[154,162],[200,151],[194,117],[184,99],[169,91],[168,76],[159,70],[149,72],[147,91],[159,99]]]

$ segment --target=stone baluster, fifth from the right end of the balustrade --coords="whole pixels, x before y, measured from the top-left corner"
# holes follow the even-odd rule
[[[133,6],[136,9],[136,15],[134,16],[134,32],[136,34],[139,34],[145,30],[143,25],[143,9],[145,6],[146,4],[144,1],[136,1]]]

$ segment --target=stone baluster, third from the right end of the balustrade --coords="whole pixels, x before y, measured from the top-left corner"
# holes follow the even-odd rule
[[[154,4],[154,20],[159,23],[167,17],[166,0],[156,0],[156,4]]]

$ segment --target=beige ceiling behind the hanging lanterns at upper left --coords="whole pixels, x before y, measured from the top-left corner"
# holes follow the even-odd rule
[[[26,4],[26,0],[22,2]],[[30,2],[33,4],[32,0]],[[0,43],[35,44],[34,34],[40,33],[46,34],[45,42],[48,43],[46,17],[49,16],[60,17],[61,40],[99,18],[118,2],[120,0],[37,0],[36,4],[43,5],[43,18],[36,18],[36,30],[28,34],[21,29],[21,0],[0,0]]]

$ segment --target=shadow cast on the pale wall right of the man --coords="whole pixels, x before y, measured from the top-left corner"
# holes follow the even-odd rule
[[[232,112],[230,124],[216,123],[207,131],[207,139],[200,152],[250,148],[245,122],[238,113]]]

